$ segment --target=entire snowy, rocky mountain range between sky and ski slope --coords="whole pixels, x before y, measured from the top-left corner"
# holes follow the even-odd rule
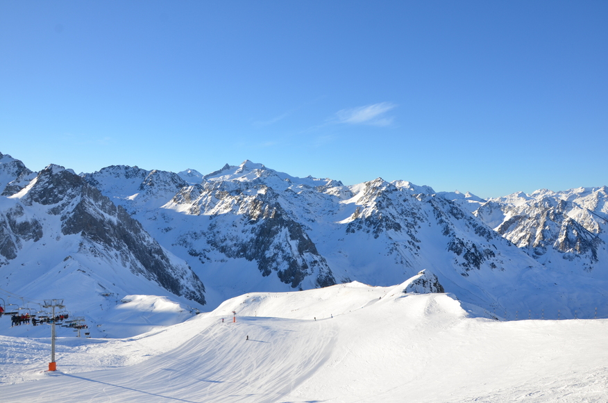
[[[124,165],[78,175],[0,154],[0,287],[89,293],[91,307],[139,294],[212,309],[254,291],[391,286],[424,270],[435,292],[490,317],[606,316],[607,190],[486,200],[251,161],[205,175]]]

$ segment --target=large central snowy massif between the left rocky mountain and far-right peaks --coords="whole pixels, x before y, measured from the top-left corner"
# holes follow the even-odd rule
[[[469,193],[380,178],[344,186],[251,161],[185,186],[175,175],[121,166],[84,177],[188,262],[211,306],[253,290],[387,286],[420,270],[460,299],[508,315],[547,306],[573,316],[608,294],[603,272],[552,270],[493,231],[471,214],[490,202]]]

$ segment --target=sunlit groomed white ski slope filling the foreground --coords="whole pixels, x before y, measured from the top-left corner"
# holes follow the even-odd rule
[[[404,284],[251,293],[133,338],[61,338],[54,373],[48,339],[1,336],[0,401],[608,401],[608,320],[500,322]]]

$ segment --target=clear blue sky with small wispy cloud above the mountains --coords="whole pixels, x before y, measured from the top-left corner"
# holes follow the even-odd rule
[[[0,152],[481,197],[608,185],[607,21],[606,1],[1,1]]]

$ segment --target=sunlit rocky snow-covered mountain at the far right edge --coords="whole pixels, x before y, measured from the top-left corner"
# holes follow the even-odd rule
[[[608,188],[514,193],[474,214],[551,270],[608,279]]]

